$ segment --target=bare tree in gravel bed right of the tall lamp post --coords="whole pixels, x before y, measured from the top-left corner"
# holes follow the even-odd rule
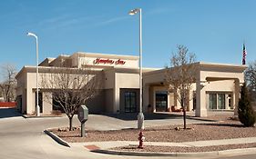
[[[184,45],[178,45],[178,52],[170,57],[170,67],[166,71],[166,84],[169,85],[169,92],[176,94],[177,100],[183,111],[184,129],[186,126],[186,109],[189,104],[189,92],[191,84],[195,82],[196,65],[195,55],[189,53]]]

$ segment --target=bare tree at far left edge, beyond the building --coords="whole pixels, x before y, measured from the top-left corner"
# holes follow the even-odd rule
[[[1,74],[3,81],[0,84],[0,91],[4,97],[5,102],[15,101],[15,87],[16,87],[16,68],[15,65],[5,64],[1,65]]]

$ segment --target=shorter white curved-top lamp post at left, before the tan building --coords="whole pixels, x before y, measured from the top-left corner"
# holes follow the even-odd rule
[[[40,108],[38,104],[38,38],[33,33],[27,33],[27,35],[36,38],[36,116],[40,116]]]

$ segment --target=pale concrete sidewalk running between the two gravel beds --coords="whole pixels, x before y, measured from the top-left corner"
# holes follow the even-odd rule
[[[226,145],[226,144],[251,144],[256,143],[256,137],[223,139],[223,140],[209,140],[209,141],[195,141],[184,143],[163,143],[163,142],[144,142],[145,145],[159,145],[159,146],[182,146],[182,147],[203,147],[212,145]],[[87,146],[96,145],[99,149],[109,149],[118,146],[127,146],[130,144],[138,144],[138,141],[108,141],[108,142],[88,142],[88,143],[69,143],[71,146]]]

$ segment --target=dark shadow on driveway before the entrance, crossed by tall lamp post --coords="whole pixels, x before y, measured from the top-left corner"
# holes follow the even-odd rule
[[[138,113],[127,113],[127,114],[103,114],[109,117],[114,117],[120,120],[137,120]],[[156,119],[180,119],[182,116],[179,114],[161,114],[161,113],[154,113],[154,114],[144,114],[145,120],[156,120]]]

